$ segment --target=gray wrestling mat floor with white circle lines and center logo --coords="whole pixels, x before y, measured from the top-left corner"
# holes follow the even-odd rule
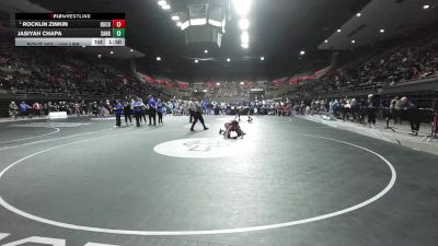
[[[0,244],[436,245],[438,157],[303,119],[0,125]]]

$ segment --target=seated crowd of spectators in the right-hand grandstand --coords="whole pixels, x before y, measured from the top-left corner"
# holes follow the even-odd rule
[[[438,36],[400,45],[333,68],[313,82],[292,86],[299,97],[381,89],[405,82],[438,78]],[[286,95],[287,96],[287,95]]]

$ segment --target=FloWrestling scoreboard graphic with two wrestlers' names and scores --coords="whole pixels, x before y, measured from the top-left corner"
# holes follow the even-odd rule
[[[125,13],[15,13],[15,46],[125,46]]]

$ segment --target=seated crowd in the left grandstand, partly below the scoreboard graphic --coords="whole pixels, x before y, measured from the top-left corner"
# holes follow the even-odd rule
[[[82,99],[157,94],[163,90],[142,83],[99,58],[65,48],[13,47],[0,39],[0,91],[2,94],[61,95]],[[168,94],[168,95],[164,95]]]

